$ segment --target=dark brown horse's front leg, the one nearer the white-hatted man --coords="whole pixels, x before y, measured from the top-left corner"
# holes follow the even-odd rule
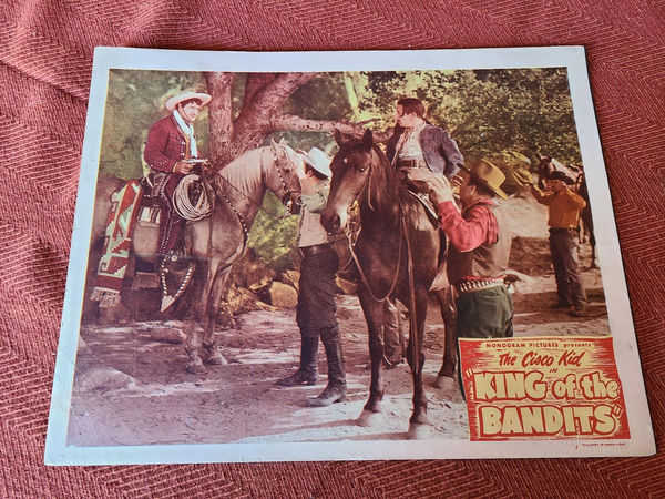
[[[376,302],[366,291],[360,291],[358,297],[367,320],[371,383],[369,385],[369,399],[365,404],[357,422],[360,426],[372,426],[377,422],[377,416],[381,414],[381,400],[383,398],[381,368],[383,360],[383,303]]]

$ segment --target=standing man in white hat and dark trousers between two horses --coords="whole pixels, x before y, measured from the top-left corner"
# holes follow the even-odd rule
[[[326,349],[328,385],[309,406],[329,406],[346,399],[346,374],[341,352],[339,324],[335,316],[335,273],[339,258],[320,222],[330,185],[330,157],[317,147],[303,155],[300,177],[300,224],[298,251],[300,279],[296,322],[300,328],[300,367],[290,376],[279,379],[279,386],[314,385],[317,380],[318,339]]]

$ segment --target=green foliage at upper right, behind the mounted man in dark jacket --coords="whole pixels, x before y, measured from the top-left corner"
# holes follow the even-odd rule
[[[581,161],[564,68],[365,72],[356,81],[365,83],[355,84],[360,110],[380,116],[380,125],[392,124],[399,98],[421,99],[427,118],[451,131],[467,160],[510,149]]]

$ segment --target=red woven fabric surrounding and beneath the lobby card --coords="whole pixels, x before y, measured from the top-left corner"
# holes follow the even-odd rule
[[[0,497],[665,495],[663,455],[84,468],[42,464],[95,45],[249,51],[585,45],[655,435],[662,448],[662,1],[2,3]]]

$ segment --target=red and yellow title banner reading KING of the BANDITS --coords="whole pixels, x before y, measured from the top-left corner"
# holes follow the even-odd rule
[[[611,336],[459,342],[471,440],[630,438]]]

